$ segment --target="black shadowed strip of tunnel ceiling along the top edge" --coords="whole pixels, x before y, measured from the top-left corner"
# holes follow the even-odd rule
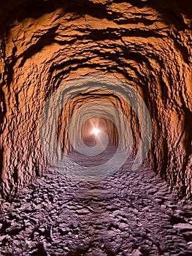
[[[115,0],[116,3],[125,2],[123,0]],[[176,23],[178,28],[185,28],[185,23],[177,12],[181,12],[188,18],[192,18],[192,2],[191,0],[163,0],[163,1],[140,1],[140,0],[129,0],[133,6],[151,7],[164,15],[164,20],[167,23]],[[67,10],[79,13],[88,13],[98,18],[107,18],[109,20],[114,20],[118,18],[118,12],[113,12],[109,15],[105,10],[105,6],[102,4],[93,4],[90,1],[77,1],[77,0],[1,0],[1,10],[0,10],[0,32],[7,30],[8,27],[14,22],[14,20],[22,21],[25,18],[38,18],[39,16],[54,12],[58,8],[64,8],[64,12]],[[148,25],[148,20],[143,15],[143,22]],[[140,19],[141,20],[141,19]],[[133,23],[137,23],[139,20],[132,20]]]

